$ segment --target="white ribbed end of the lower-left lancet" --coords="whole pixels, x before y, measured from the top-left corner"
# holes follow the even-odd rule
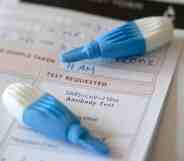
[[[43,92],[29,84],[14,83],[9,85],[2,94],[2,102],[8,112],[22,122],[25,108],[43,95]]]

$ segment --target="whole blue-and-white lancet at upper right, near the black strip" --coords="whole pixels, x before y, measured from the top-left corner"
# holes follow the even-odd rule
[[[143,56],[170,42],[173,31],[172,21],[166,17],[129,21],[79,48],[61,53],[60,61]]]

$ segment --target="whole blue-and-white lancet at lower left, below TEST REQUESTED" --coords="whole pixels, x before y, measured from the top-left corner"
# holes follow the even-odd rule
[[[108,146],[81,125],[79,117],[53,95],[29,84],[14,83],[2,94],[7,111],[17,121],[54,140],[109,155]]]

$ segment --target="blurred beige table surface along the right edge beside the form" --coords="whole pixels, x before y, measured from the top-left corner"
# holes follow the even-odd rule
[[[184,42],[184,31],[176,31]],[[160,126],[153,147],[151,161],[184,161],[184,52],[165,101]]]

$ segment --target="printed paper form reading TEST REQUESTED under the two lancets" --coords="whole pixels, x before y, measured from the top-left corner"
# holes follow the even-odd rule
[[[44,17],[38,16],[40,12]],[[1,161],[145,160],[182,52],[179,42],[145,57],[59,64],[59,51],[89,41],[121,22],[33,6],[2,10],[0,20],[1,93],[14,81],[41,86],[63,100],[112,150],[112,157],[103,158],[48,140],[2,110]]]

